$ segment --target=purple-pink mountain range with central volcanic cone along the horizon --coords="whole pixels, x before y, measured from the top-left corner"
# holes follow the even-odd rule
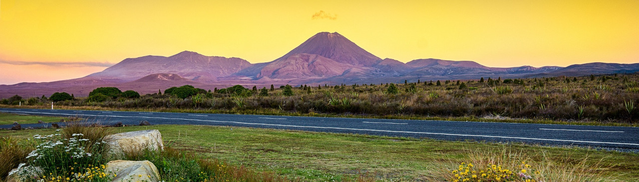
[[[639,63],[587,63],[567,67],[492,68],[473,61],[381,59],[339,33],[315,34],[284,56],[251,64],[237,57],[204,56],[183,51],[173,56],[128,58],[79,79],[0,85],[0,98],[41,96],[65,91],[86,96],[96,87],[114,86],[142,94],[190,84],[203,89],[291,84],[369,84],[409,80],[458,80],[480,77],[525,78],[639,72]]]

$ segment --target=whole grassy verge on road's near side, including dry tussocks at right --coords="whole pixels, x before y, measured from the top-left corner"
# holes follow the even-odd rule
[[[189,154],[192,158],[187,158],[187,161],[196,161],[192,160],[196,158],[208,161],[208,165],[199,162],[198,170],[206,168],[202,166],[221,164],[233,168],[226,169],[229,173],[236,171],[233,174],[244,175],[242,178],[225,177],[231,181],[454,181],[455,175],[459,176],[460,173],[468,179],[475,179],[472,178],[475,169],[477,175],[481,175],[480,170],[486,173],[491,171],[493,165],[496,169],[493,172],[503,172],[500,175],[506,176],[511,171],[514,171],[512,175],[527,171],[532,179],[539,181],[639,181],[639,174],[636,173],[639,170],[637,153],[517,143],[232,128],[153,125],[99,130],[108,130],[109,133],[159,130],[164,144],[170,149],[161,155],[149,154],[154,156],[151,160],[157,156],[176,156],[171,153]],[[73,129],[74,132],[84,133],[91,133],[92,130],[96,129]],[[54,133],[57,133],[54,128],[0,130],[0,137],[10,137],[19,144],[27,145],[29,142],[26,139],[34,135]],[[144,155],[131,158],[146,160]],[[468,164],[473,167],[468,167]],[[189,167],[176,169],[192,169]],[[463,172],[465,169],[470,171]],[[249,180],[246,176],[252,177]],[[173,179],[171,176],[163,178]],[[525,179],[521,178],[521,181]]]

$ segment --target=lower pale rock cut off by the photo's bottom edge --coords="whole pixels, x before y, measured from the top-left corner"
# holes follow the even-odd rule
[[[111,182],[160,181],[160,172],[148,160],[113,160],[107,163],[107,168],[104,171],[111,176],[116,174]]]

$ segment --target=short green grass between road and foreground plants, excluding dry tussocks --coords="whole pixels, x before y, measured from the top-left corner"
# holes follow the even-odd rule
[[[0,115],[2,121],[32,116]],[[53,118],[52,118],[53,119]],[[57,119],[57,118],[56,118]],[[44,120],[43,120],[44,121]],[[227,126],[154,125],[113,128],[113,132],[155,129],[164,143],[193,151],[203,158],[218,158],[232,165],[246,165],[257,171],[301,178],[303,181],[339,181],[367,173],[381,180],[410,181],[454,169],[471,160],[473,154],[507,153],[528,163],[550,162],[571,165],[583,162],[596,167],[606,181],[639,179],[639,154],[585,148],[558,148],[526,144],[491,144],[300,132]],[[54,129],[0,130],[0,136],[27,139]]]

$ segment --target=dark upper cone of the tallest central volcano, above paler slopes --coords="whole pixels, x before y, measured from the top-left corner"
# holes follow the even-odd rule
[[[356,66],[372,66],[381,60],[380,57],[367,52],[337,32],[317,33],[279,59],[286,59],[286,57],[292,56],[293,54],[304,53],[317,54],[333,59],[339,63]]]

